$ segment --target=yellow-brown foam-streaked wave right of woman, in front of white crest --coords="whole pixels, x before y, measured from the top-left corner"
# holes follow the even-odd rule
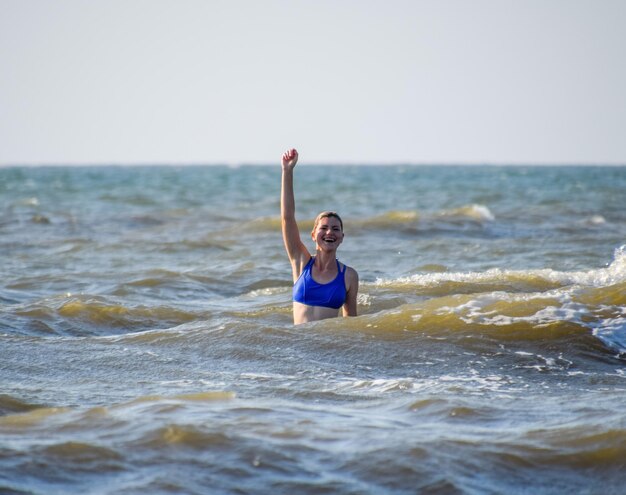
[[[626,352],[626,282],[541,292],[473,291],[432,297],[365,315],[369,328],[431,333],[480,331],[500,338],[543,339],[593,331]],[[608,339],[608,340],[607,340]]]

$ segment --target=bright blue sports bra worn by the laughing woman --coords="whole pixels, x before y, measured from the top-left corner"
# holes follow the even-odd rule
[[[307,306],[323,306],[339,309],[346,302],[346,268],[343,271],[337,261],[337,276],[332,282],[320,284],[313,280],[311,268],[315,258],[311,257],[302,273],[293,284],[293,300]]]

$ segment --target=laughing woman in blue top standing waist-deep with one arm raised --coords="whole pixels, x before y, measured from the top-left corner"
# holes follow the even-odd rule
[[[315,219],[311,238],[315,256],[300,239],[293,194],[293,169],[298,162],[295,149],[282,159],[280,212],[285,249],[293,272],[293,321],[300,324],[338,316],[356,316],[359,275],[337,260],[337,248],[343,242],[343,222],[337,213],[324,211]]]

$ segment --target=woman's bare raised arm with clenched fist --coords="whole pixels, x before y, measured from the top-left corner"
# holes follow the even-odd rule
[[[309,251],[300,238],[296,223],[296,201],[293,193],[293,169],[298,162],[295,149],[286,151],[282,158],[282,183],[280,193],[280,216],[282,220],[283,241],[291,262],[294,281],[300,276],[304,265],[310,258]]]

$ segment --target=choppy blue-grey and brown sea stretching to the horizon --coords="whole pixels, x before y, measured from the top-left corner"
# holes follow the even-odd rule
[[[626,167],[0,169],[1,494],[626,493]]]

